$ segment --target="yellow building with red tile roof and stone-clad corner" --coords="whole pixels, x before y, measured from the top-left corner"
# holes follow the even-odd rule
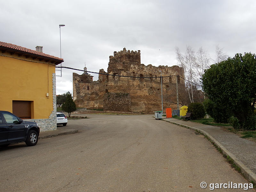
[[[55,66],[63,59],[0,42],[0,110],[39,124],[40,131],[56,129]]]

